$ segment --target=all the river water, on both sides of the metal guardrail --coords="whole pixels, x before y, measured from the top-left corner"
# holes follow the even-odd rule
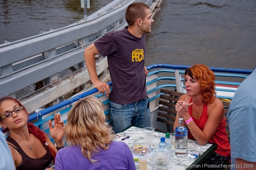
[[[88,14],[112,0],[91,0]],[[79,0],[1,0],[0,43],[83,18]],[[146,36],[145,65],[170,63],[254,69],[255,0],[164,0]]]

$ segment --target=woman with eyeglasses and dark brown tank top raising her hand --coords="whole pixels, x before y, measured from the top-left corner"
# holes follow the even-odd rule
[[[44,170],[52,161],[54,163],[57,150],[65,147],[61,126],[64,123],[60,121],[60,115],[54,116],[54,128],[52,122],[49,122],[50,133],[56,146],[43,131],[28,123],[28,112],[16,99],[0,99],[0,123],[3,132],[9,133],[6,140],[17,170]]]

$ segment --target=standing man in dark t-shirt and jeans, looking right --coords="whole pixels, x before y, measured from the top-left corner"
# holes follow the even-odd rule
[[[151,16],[147,4],[129,5],[125,11],[128,27],[106,33],[84,51],[93,86],[100,93],[110,95],[109,114],[115,133],[133,124],[151,126],[146,89],[148,71],[144,67],[145,34],[151,32],[151,24],[154,22]],[[98,79],[94,57],[97,54],[108,57],[111,94],[109,85]]]

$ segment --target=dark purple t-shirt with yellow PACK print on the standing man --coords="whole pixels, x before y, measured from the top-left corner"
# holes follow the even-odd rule
[[[111,31],[94,42],[102,56],[108,57],[112,79],[110,101],[129,104],[147,97],[144,57],[145,34],[133,36],[126,28]]]

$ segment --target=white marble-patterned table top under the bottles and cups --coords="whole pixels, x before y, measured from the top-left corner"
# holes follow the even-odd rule
[[[125,143],[128,144],[129,147],[132,147],[133,144],[144,143],[143,130],[141,128],[132,126],[129,129],[125,130],[124,133],[126,134],[126,136],[132,137],[132,139],[125,141]],[[160,142],[161,137],[165,137],[165,134],[156,131],[154,132],[154,148],[158,148],[158,143]],[[188,139],[188,154],[196,151],[200,152],[202,156],[202,154],[211,146],[212,144],[205,144],[201,146],[195,140]],[[154,165],[152,164],[152,161],[150,161],[150,159],[148,160],[147,170],[154,170]],[[189,160],[186,157],[177,157],[175,155],[175,152],[172,152],[172,157],[168,165],[168,170],[184,170],[196,160]],[[139,166],[136,165],[136,168],[139,169]]]

